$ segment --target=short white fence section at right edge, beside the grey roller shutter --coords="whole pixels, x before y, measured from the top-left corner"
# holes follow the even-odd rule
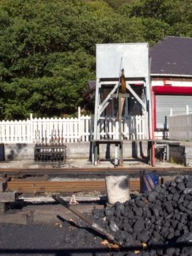
[[[192,113],[169,116],[169,140],[192,140]]]

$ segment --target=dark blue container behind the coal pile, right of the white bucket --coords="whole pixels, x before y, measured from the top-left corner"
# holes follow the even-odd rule
[[[151,191],[158,185],[158,174],[155,171],[141,170],[140,171],[140,192]]]

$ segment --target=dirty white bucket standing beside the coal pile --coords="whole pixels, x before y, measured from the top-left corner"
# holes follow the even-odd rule
[[[124,203],[130,199],[128,176],[107,176],[105,184],[108,203]]]

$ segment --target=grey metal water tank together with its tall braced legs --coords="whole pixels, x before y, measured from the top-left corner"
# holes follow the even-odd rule
[[[130,94],[131,97],[134,97],[134,99],[139,102],[139,105],[142,107],[142,113],[145,115],[146,127],[148,127],[145,139],[151,139],[152,116],[148,44],[99,44],[96,45],[96,100],[93,142],[96,141],[99,143],[101,116],[104,116],[104,110],[106,110],[107,106],[112,102],[114,95],[116,95],[118,99],[127,98],[126,94],[120,94],[119,90],[120,72],[122,69],[124,69],[125,72],[127,94]],[[133,86],[137,84],[142,85],[142,98],[139,97],[133,89]],[[118,102],[120,102],[120,100],[118,100]],[[120,112],[119,108],[120,104],[118,105],[118,111]],[[119,127],[121,126],[119,125]],[[117,140],[120,141],[122,139],[121,130],[119,128]],[[93,148],[93,154],[95,155],[96,150],[96,148]],[[115,156],[115,159],[116,158],[117,154]],[[94,157],[94,159],[96,159],[96,157]]]

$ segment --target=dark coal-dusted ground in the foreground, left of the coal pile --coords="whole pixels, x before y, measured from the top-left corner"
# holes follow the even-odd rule
[[[103,240],[82,222],[77,225],[66,221],[62,225],[4,223],[0,226],[0,255],[116,255],[100,244]]]

